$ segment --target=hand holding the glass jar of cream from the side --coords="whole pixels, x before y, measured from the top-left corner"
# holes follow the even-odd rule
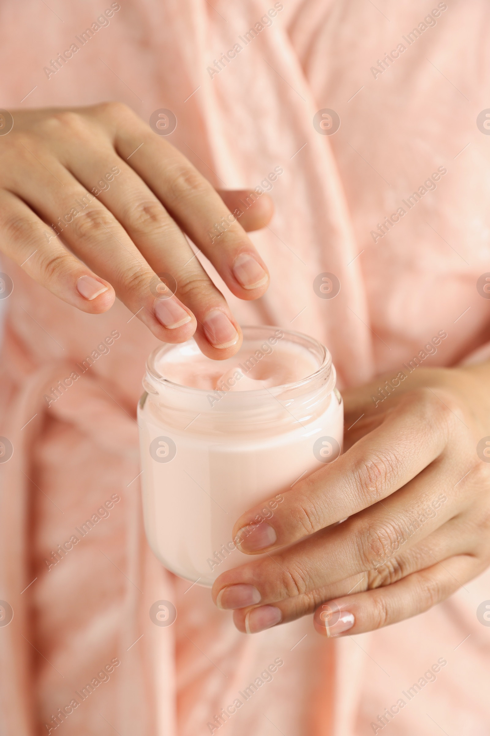
[[[417,368],[377,407],[384,381],[345,392],[345,454],[252,532],[240,530],[262,504],[234,527],[243,552],[267,552],[215,581],[240,631],[315,612],[320,634],[360,634],[427,610],[490,564],[489,378],[490,364]]]

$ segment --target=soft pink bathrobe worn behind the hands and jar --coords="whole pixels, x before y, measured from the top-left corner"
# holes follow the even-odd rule
[[[400,369],[438,330],[448,336],[427,365],[453,365],[489,339],[489,302],[475,288],[489,269],[489,141],[475,125],[488,104],[483,0],[448,2],[437,25],[376,79],[370,68],[430,11],[422,0],[396,9],[383,0],[284,2],[273,25],[213,78],[207,67],[272,1],[121,5],[47,79],[43,66],[102,7],[3,0],[2,107],[119,99],[146,120],[168,107],[179,121],[170,140],[214,185],[259,185],[282,166],[271,192],[273,222],[253,235],[270,266],[270,290],[259,303],[242,304],[217,283],[243,322],[322,339],[343,385]],[[324,107],[342,120],[331,137],[311,122]],[[447,174],[436,191],[374,243],[370,231],[438,166]],[[89,316],[12,263],[4,270],[15,288],[0,434],[15,451],[0,465],[0,599],[14,609],[12,623],[0,628],[2,732],[46,733],[51,715],[118,658],[109,682],[62,723],[65,734],[199,736],[278,657],[284,665],[273,682],[223,726],[228,734],[372,732],[378,714],[439,657],[447,666],[437,682],[391,721],[390,732],[428,736],[433,721],[463,736],[489,732],[489,629],[475,617],[489,598],[489,573],[425,615],[355,639],[320,640],[309,618],[239,634],[207,590],[187,590],[145,542],[134,410],[156,340],[120,303]],[[321,272],[342,284],[334,300],[314,294]],[[120,339],[109,355],[47,409],[46,387],[112,330]],[[51,551],[111,495],[120,501],[110,517],[48,570]],[[178,610],[168,628],[148,615],[161,599]]]

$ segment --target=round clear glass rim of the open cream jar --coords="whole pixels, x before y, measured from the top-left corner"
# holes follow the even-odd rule
[[[314,337],[311,337],[309,335],[306,335],[305,333],[296,332],[295,330],[284,330],[283,328],[275,327],[273,325],[243,325],[241,327],[242,333],[244,336],[244,339],[265,339],[265,336],[270,336],[271,330],[281,330],[282,333],[284,333],[284,339],[289,339],[290,342],[295,342],[296,344],[302,344],[303,347],[306,347],[310,350],[311,353],[315,353],[317,355],[317,358],[320,362],[319,367],[316,371],[313,373],[310,373],[309,375],[305,376],[305,378],[301,378],[300,381],[292,381],[291,383],[281,383],[279,386],[271,386],[270,388],[260,388],[260,389],[251,389],[246,390],[242,392],[233,392],[236,399],[238,397],[259,397],[261,394],[269,394],[269,395],[276,395],[276,394],[282,394],[284,392],[295,392],[297,389],[300,389],[302,386],[304,386],[306,383],[311,385],[311,383],[316,383],[319,381],[319,383],[333,383],[330,386],[330,389],[334,388],[335,385],[335,370],[332,370],[332,357],[331,353],[328,350],[325,345],[323,345],[318,340],[314,339]],[[267,335],[264,334],[263,337],[257,336],[256,333],[267,333]],[[251,334],[255,333],[255,334]],[[190,340],[187,340],[187,342],[183,343],[163,343],[160,344],[158,347],[156,347],[150,355],[148,355],[148,360],[146,361],[146,371],[147,375],[150,378],[154,379],[154,382],[160,386],[167,386],[168,388],[181,392],[185,392],[186,394],[195,394],[196,396],[203,396],[204,394],[209,394],[210,390],[214,389],[198,389],[194,386],[184,386],[182,383],[175,383],[174,381],[170,381],[170,379],[165,378],[164,376],[159,373],[159,371],[156,369],[156,359],[159,358],[161,355],[170,352],[170,350],[176,349],[176,347],[181,347],[186,344],[196,344],[195,339],[192,337]],[[219,362],[219,361],[216,361]]]

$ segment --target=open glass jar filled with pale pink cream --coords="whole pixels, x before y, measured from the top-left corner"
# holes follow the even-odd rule
[[[138,404],[148,542],[168,570],[204,586],[250,561],[231,534],[241,514],[264,502],[256,523],[272,518],[284,492],[342,452],[343,404],[328,350],[279,328],[242,330],[239,355],[226,361],[203,358],[193,339],[157,347]],[[287,369],[298,350],[310,375],[281,386],[261,382],[267,364]],[[196,370],[203,360],[222,372],[238,365],[259,378],[243,382],[252,390],[233,390],[231,371],[220,389],[193,388],[164,377],[176,360],[195,361]]]

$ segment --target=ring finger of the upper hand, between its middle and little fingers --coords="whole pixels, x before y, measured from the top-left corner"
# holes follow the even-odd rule
[[[177,297],[155,299],[150,284],[158,277],[112,213],[45,149],[36,151],[40,166],[32,166],[29,155],[27,150],[18,155],[10,189],[45,222],[56,223],[53,227],[75,255],[112,284],[120,300],[157,338],[189,339],[195,317]]]

